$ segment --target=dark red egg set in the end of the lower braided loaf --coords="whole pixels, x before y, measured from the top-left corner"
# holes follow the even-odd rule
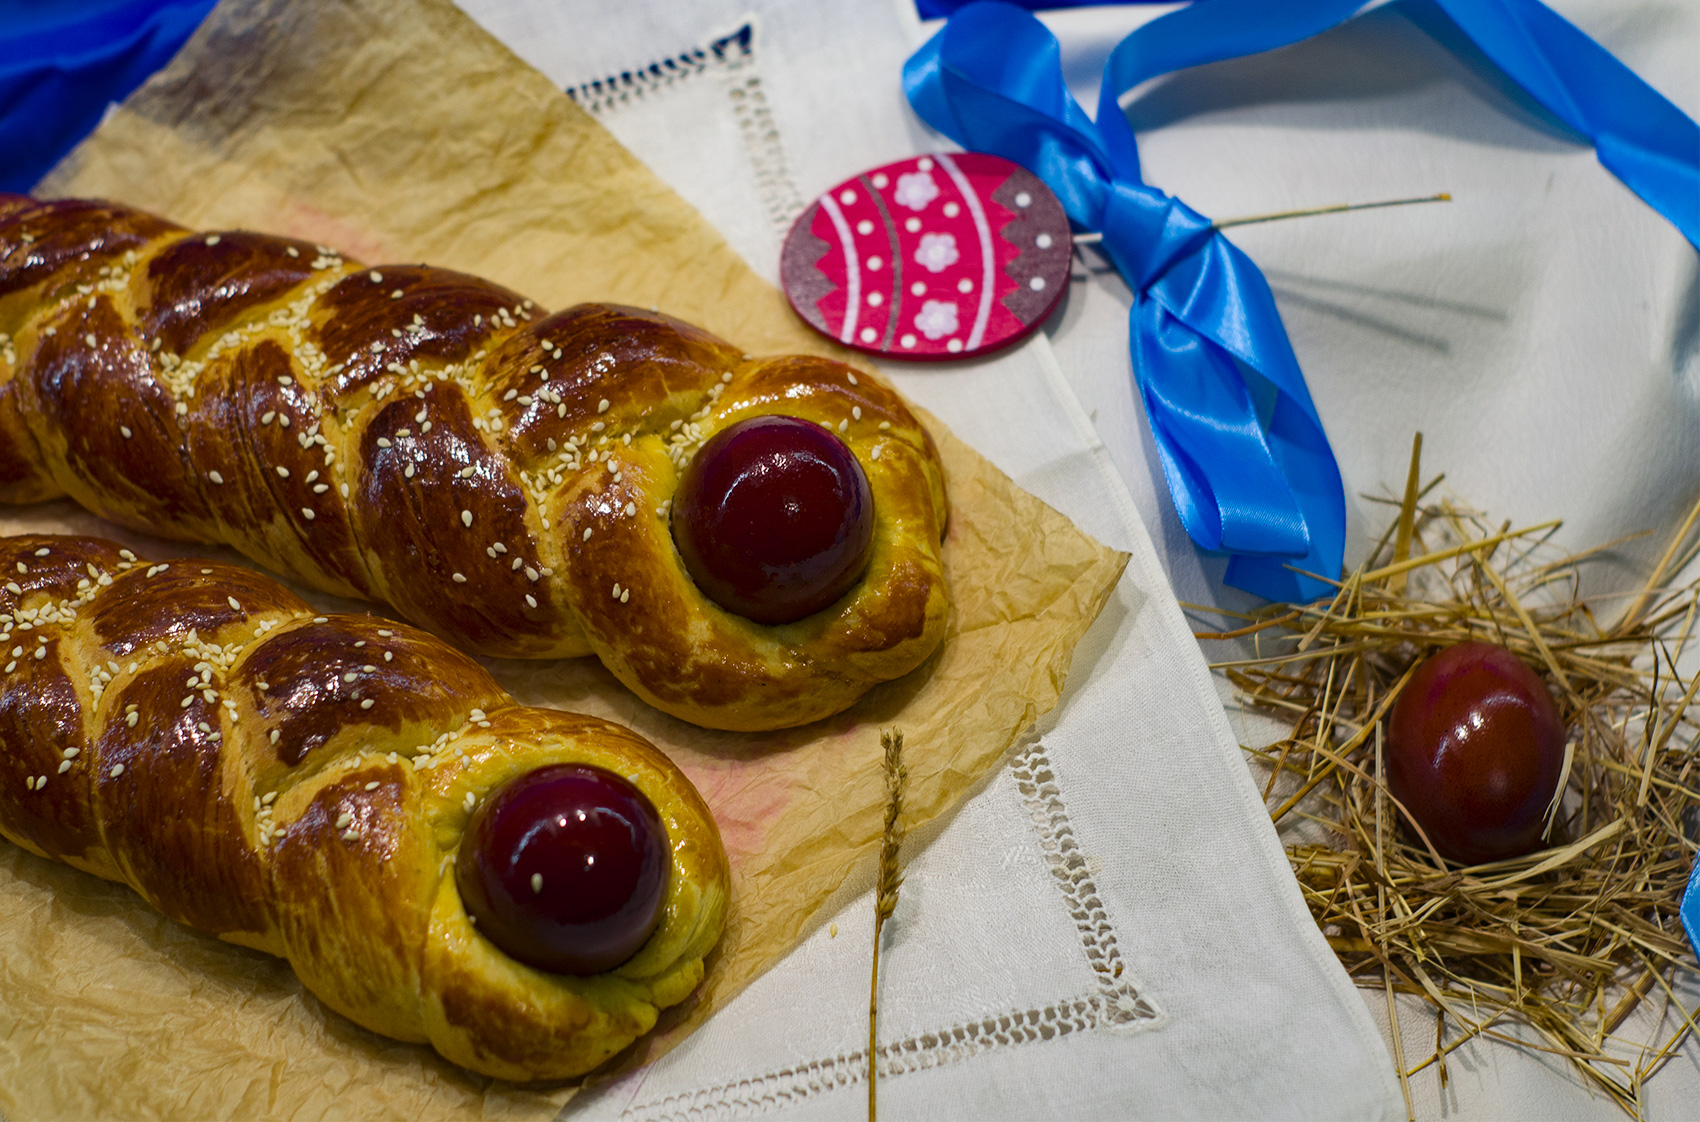
[[[598,767],[556,763],[484,799],[454,872],[478,932],[508,957],[600,974],[649,940],[668,869],[666,828],[641,790]]]

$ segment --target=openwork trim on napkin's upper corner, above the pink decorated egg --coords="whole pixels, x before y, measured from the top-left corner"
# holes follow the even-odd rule
[[[745,153],[755,172],[762,211],[784,236],[802,214],[802,197],[790,182],[785,148],[767,104],[767,90],[756,71],[756,22],[745,20],[736,31],[711,39],[699,48],[670,54],[638,70],[622,70],[595,82],[570,87],[566,95],[592,116],[614,112],[636,100],[654,97],[688,78],[714,75],[722,80],[733,119],[743,138]]]

